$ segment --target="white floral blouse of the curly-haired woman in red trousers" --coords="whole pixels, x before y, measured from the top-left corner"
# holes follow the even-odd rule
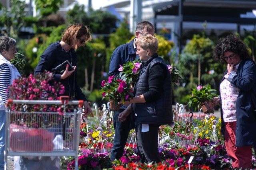
[[[236,71],[238,65],[239,64],[236,65],[234,71]],[[220,84],[223,119],[224,122],[232,122],[236,121],[236,99],[240,90],[227,80],[228,74],[224,77],[225,79]]]

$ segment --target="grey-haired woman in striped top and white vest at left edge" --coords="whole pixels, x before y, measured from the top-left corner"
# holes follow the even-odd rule
[[[9,98],[7,90],[8,86],[12,84],[12,80],[20,76],[15,66],[10,63],[16,53],[15,39],[6,36],[0,37],[0,170],[4,169],[5,109]]]

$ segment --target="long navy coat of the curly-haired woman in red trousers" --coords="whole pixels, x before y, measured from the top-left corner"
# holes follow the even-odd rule
[[[252,146],[256,143],[256,115],[253,113],[251,98],[252,90],[256,92],[256,64],[254,61],[251,59],[241,61],[231,83],[240,89],[236,100],[236,147]],[[221,115],[223,120],[222,109]]]

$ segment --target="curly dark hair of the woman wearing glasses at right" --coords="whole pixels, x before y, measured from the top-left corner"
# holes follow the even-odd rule
[[[236,35],[228,35],[224,40],[219,39],[218,44],[213,50],[213,58],[220,60],[221,63],[226,63],[222,57],[227,51],[232,51],[233,53],[239,55],[241,60],[250,57],[247,46]]]

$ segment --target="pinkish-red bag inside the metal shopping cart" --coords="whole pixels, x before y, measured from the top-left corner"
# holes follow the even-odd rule
[[[46,129],[10,124],[10,150],[50,152],[54,148],[54,133]]]

